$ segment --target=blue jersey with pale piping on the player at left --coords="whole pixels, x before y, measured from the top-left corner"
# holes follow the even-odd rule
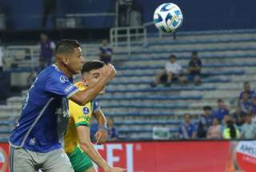
[[[39,73],[10,136],[12,147],[40,153],[62,147],[60,140],[69,120],[67,98],[78,92],[72,82],[56,65]]]

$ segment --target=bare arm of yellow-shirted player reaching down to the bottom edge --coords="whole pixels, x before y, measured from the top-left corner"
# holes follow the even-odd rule
[[[93,160],[98,166],[101,166],[105,172],[123,172],[126,171],[122,168],[114,168],[109,166],[107,162],[102,158],[98,151],[94,148],[93,143],[90,142],[90,127],[78,126],[76,127],[78,133],[78,140],[82,151]]]

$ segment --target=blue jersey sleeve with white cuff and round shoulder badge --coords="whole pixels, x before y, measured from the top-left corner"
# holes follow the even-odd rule
[[[46,91],[70,98],[78,92],[78,88],[66,76],[53,72],[50,78],[46,80]]]

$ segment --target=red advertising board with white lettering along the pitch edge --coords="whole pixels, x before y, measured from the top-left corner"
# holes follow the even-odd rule
[[[0,144],[0,171],[8,172],[8,143]],[[95,145],[111,166],[127,172],[253,172],[256,141],[149,141]],[[98,172],[102,172],[96,167]]]

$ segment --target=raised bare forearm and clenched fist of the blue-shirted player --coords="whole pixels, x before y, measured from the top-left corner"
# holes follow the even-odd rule
[[[114,78],[116,71],[113,65],[105,65],[103,67],[104,72],[102,72],[102,79],[98,81],[94,86],[89,87],[86,90],[79,91],[70,97],[70,100],[74,101],[76,104],[85,105],[90,100],[93,100],[99,92],[102,91],[104,86]]]

